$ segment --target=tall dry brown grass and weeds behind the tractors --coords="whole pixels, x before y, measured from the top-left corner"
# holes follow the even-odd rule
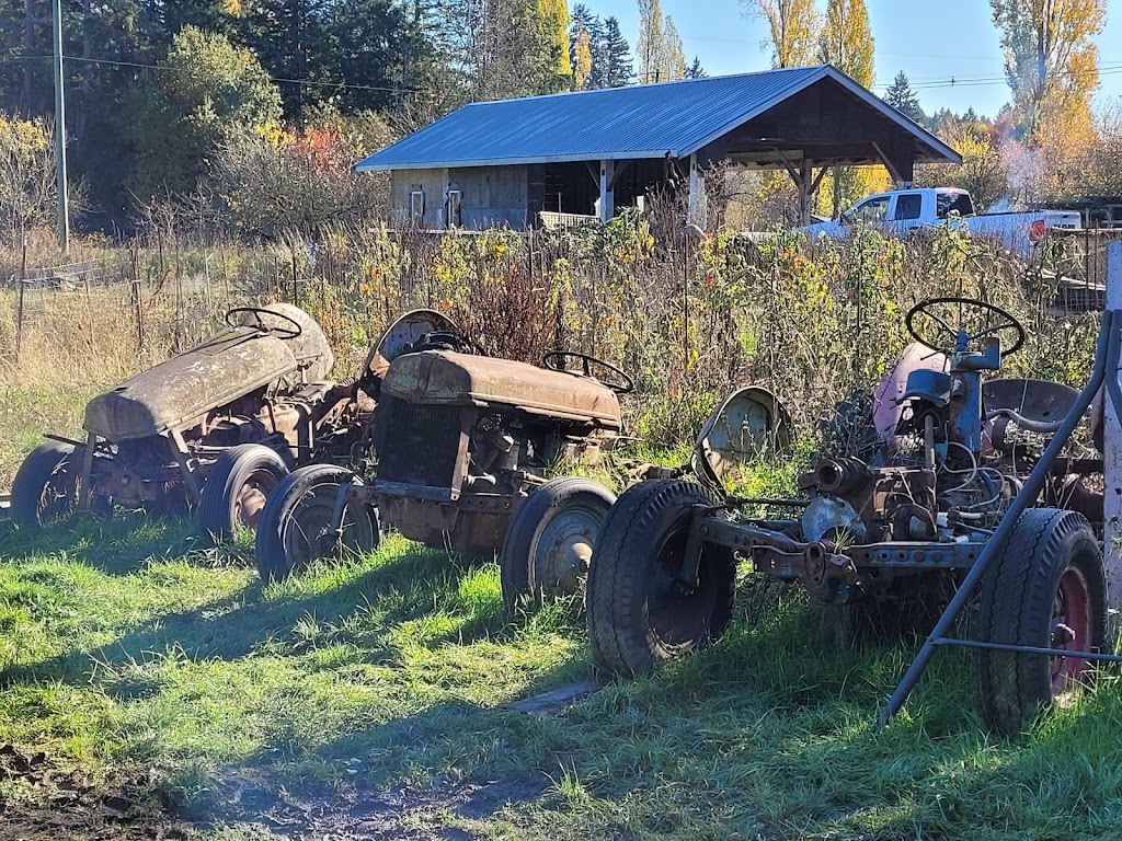
[[[33,266],[62,261],[49,243],[36,244]],[[16,295],[0,298],[0,484],[34,444],[35,426],[76,433],[89,396],[190,346],[226,308],[248,302],[306,307],[340,377],[355,373],[393,318],[422,306],[450,314],[494,354],[603,357],[635,378],[629,428],[652,445],[692,436],[712,401],[744,382],[773,389],[810,428],[875,382],[907,341],[904,315],[925,297],[1004,306],[1029,331],[1009,372],[1070,383],[1088,372],[1097,325],[1093,314],[1055,308],[1055,289],[1041,283],[1048,271],[1027,272],[949,230],[907,242],[871,230],[845,242],[793,232],[752,241],[625,214],[607,227],[531,234],[335,227],[314,243],[257,247],[157,229],[127,246],[84,241],[77,257],[120,270],[105,286],[71,277],[28,290],[18,362]],[[0,252],[0,277],[18,275],[19,259]],[[37,400],[47,408],[35,410]]]

